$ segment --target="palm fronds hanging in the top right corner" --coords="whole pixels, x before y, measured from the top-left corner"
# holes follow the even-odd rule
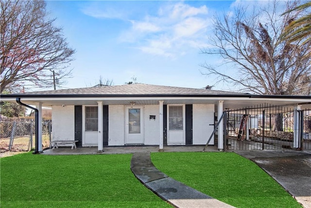
[[[288,10],[282,15],[285,15],[290,12],[301,12],[311,8],[311,1],[301,4],[294,9]],[[294,42],[296,40],[304,40],[303,43],[311,41],[311,13],[306,14],[296,20],[289,22],[288,26],[285,27],[282,36],[282,40],[287,39],[290,42]]]

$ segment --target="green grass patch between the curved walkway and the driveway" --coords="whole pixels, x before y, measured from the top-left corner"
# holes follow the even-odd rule
[[[151,159],[170,177],[238,208],[301,208],[266,172],[233,152],[158,152]]]

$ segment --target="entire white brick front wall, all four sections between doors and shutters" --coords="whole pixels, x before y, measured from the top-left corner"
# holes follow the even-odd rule
[[[149,115],[155,115],[150,120]],[[159,144],[159,105],[144,106],[144,144]],[[214,105],[193,104],[192,136],[194,145],[205,145],[214,126]],[[74,140],[74,106],[52,106],[52,140]],[[108,145],[124,145],[124,106],[109,105]],[[209,144],[214,144],[214,139]]]

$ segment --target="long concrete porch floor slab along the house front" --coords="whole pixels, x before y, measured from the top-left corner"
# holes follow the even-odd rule
[[[163,151],[203,151],[205,146],[164,146]],[[97,147],[78,147],[71,150],[70,147],[59,147],[58,149],[48,149],[43,154],[64,155],[64,154],[129,154],[135,152],[157,152],[158,146],[154,147],[104,147],[103,152],[98,152]],[[205,151],[218,151],[217,146],[208,146]]]

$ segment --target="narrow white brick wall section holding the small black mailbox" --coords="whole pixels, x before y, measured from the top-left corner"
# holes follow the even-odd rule
[[[149,115],[155,115],[155,120],[150,120]],[[145,105],[144,122],[144,144],[159,145],[159,105]]]

